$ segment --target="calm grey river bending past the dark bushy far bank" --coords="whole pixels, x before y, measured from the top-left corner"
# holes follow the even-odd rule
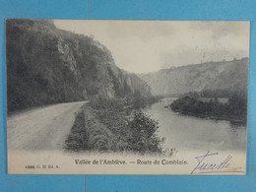
[[[182,115],[164,106],[176,98],[163,98],[145,109],[159,121],[164,147],[177,151],[246,151],[246,127],[225,120]]]

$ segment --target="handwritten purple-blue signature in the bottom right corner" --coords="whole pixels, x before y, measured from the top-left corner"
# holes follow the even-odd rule
[[[215,160],[219,153],[207,152],[204,156],[195,157],[198,161],[196,167],[191,171],[191,174],[209,174],[209,173],[227,173],[227,172],[244,172],[241,167],[231,166],[232,156],[228,155],[224,160],[220,162],[209,162]]]

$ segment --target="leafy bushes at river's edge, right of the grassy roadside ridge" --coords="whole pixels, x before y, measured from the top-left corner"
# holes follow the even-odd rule
[[[163,139],[157,135],[159,123],[141,109],[127,108],[125,99],[92,99],[100,123],[114,135],[111,151],[161,153]]]

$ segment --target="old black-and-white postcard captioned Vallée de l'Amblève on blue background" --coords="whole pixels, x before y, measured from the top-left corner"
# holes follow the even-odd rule
[[[249,29],[6,20],[8,173],[246,174]]]

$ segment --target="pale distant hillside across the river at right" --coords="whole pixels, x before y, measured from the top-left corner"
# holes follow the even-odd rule
[[[248,58],[162,69],[140,77],[151,86],[153,95],[220,89],[247,93]]]

